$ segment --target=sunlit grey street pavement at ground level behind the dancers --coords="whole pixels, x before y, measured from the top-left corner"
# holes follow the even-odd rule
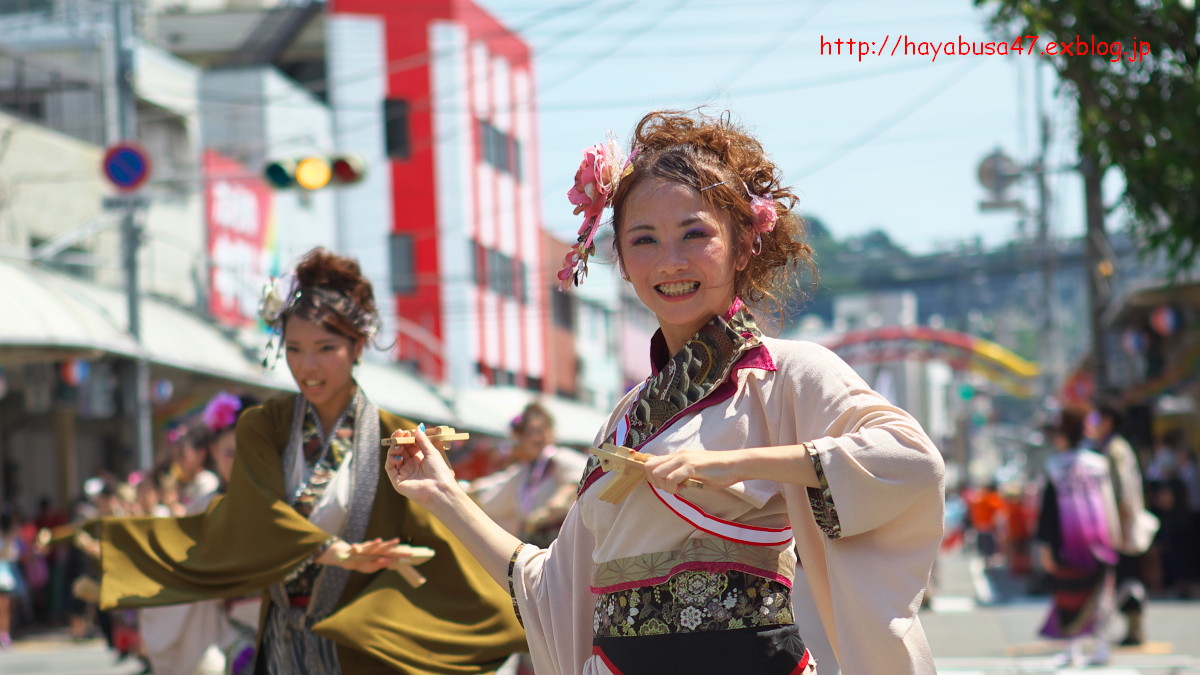
[[[1002,571],[984,571],[977,557],[949,552],[938,562],[931,607],[920,620],[937,671],[953,675],[1200,675],[1200,602],[1152,601],[1150,641],[1116,647],[1111,664],[1055,669],[1061,644],[1038,639],[1049,599],[1028,596]],[[1122,628],[1122,620],[1116,621]],[[1090,651],[1090,650],[1088,650]],[[0,674],[132,675],[133,659],[114,663],[101,640],[74,643],[65,631],[18,639],[0,651]],[[822,674],[823,675],[823,674]]]

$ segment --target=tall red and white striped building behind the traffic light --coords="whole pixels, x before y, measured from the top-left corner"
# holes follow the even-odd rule
[[[380,118],[376,192],[390,192],[340,196],[340,245],[370,268],[379,239],[354,228],[390,219],[396,358],[452,387],[550,390],[529,47],[469,0],[331,0],[328,12],[335,135],[353,147]]]

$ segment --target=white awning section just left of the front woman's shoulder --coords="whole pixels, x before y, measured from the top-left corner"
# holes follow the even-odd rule
[[[454,406],[462,429],[508,436],[509,423],[533,400],[554,416],[554,436],[565,444],[590,446],[608,419],[607,411],[516,387],[462,389],[455,393]]]

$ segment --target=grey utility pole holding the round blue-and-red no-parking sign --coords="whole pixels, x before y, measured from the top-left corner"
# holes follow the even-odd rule
[[[113,2],[113,49],[116,65],[116,117],[120,141],[130,142],[138,136],[138,107],[133,91],[133,2]],[[142,298],[138,280],[138,250],[142,247],[142,225],[138,222],[140,204],[131,199],[121,216],[121,258],[125,268],[125,298],[128,311],[130,335],[139,345],[134,359],[132,382],[134,400],[134,440],[137,441],[138,467],[154,464],[154,436],[150,412],[150,362],[142,346]],[[127,399],[126,399],[127,400]]]

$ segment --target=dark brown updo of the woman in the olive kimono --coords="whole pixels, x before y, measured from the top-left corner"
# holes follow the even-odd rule
[[[379,312],[356,259],[318,246],[300,258],[295,274],[300,298],[287,316],[324,324],[355,342],[372,336]]]

